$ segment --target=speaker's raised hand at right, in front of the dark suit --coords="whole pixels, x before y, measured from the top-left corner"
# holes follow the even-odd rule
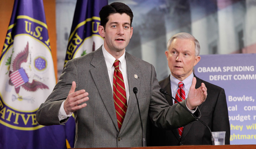
[[[192,85],[189,89],[188,100],[186,105],[189,109],[195,109],[195,107],[201,105],[207,97],[207,88],[204,83],[198,89],[195,89],[196,78],[193,78]]]

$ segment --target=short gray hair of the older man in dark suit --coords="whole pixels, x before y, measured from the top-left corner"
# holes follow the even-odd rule
[[[194,36],[192,36],[191,34],[189,33],[185,33],[185,32],[181,32],[181,33],[178,33],[178,34],[175,34],[173,35],[167,42],[167,49],[169,50],[169,47],[171,46],[172,44],[172,41],[177,38],[177,39],[191,39],[192,41],[194,41],[195,43],[195,56],[199,56],[200,54],[200,44],[198,42],[197,39],[195,39]]]

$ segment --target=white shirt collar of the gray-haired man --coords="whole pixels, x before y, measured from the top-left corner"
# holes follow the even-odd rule
[[[191,73],[185,80],[183,80],[182,82],[184,83],[184,88],[186,90],[189,91],[190,86],[192,85],[192,80],[193,80],[194,74]],[[172,89],[177,89],[178,88],[178,83],[180,82],[180,80],[178,80],[177,78],[175,78],[174,76],[172,76],[172,74],[170,75],[170,81],[171,81],[171,87]]]

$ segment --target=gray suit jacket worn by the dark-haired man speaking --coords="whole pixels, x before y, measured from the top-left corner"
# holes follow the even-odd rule
[[[117,126],[113,91],[101,48],[67,62],[53,92],[38,109],[38,123],[47,126],[67,121],[58,120],[58,111],[61,103],[67,98],[72,81],[76,81],[76,90],[85,89],[89,93],[87,106],[74,112],[76,148],[142,146],[140,117],[137,101],[132,92],[134,87],[138,88],[137,97],[143,129],[146,129],[148,115],[155,126],[165,129],[178,128],[195,120],[181,106],[169,106],[159,92],[160,86],[151,64],[128,53],[125,53],[125,59],[130,97],[120,132]],[[135,78],[134,74],[137,74],[138,78]],[[185,105],[184,102],[183,104]]]

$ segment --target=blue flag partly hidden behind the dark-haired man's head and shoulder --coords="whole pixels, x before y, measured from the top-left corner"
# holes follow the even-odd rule
[[[99,11],[105,5],[108,5],[108,0],[77,0],[64,65],[68,60],[90,53],[104,43],[98,27]]]

